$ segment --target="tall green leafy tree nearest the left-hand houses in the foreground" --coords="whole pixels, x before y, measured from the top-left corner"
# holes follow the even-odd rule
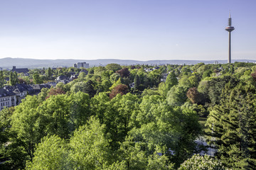
[[[10,142],[26,152],[28,157],[23,157],[23,161],[29,159],[32,162],[36,144],[46,135],[43,132],[45,123],[41,114],[36,111],[38,106],[37,96],[27,96],[21,104],[16,106],[11,116],[11,131],[14,137],[11,137]]]

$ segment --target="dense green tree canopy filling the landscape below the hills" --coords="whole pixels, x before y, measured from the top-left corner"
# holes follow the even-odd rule
[[[256,64],[4,71],[0,86],[70,72],[0,111],[0,169],[256,169]]]

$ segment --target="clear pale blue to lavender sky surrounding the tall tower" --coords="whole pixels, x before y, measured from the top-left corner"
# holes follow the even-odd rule
[[[255,0],[0,0],[0,58],[256,60]]]

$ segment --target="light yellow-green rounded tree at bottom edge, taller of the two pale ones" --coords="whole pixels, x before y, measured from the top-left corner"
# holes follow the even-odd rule
[[[104,164],[112,162],[105,125],[91,118],[87,125],[81,126],[70,139],[70,157],[76,167],[82,169],[103,169]]]

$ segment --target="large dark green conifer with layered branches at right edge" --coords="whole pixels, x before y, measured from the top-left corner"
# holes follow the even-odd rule
[[[221,98],[208,116],[208,140],[226,166],[256,169],[255,86],[226,84]]]

